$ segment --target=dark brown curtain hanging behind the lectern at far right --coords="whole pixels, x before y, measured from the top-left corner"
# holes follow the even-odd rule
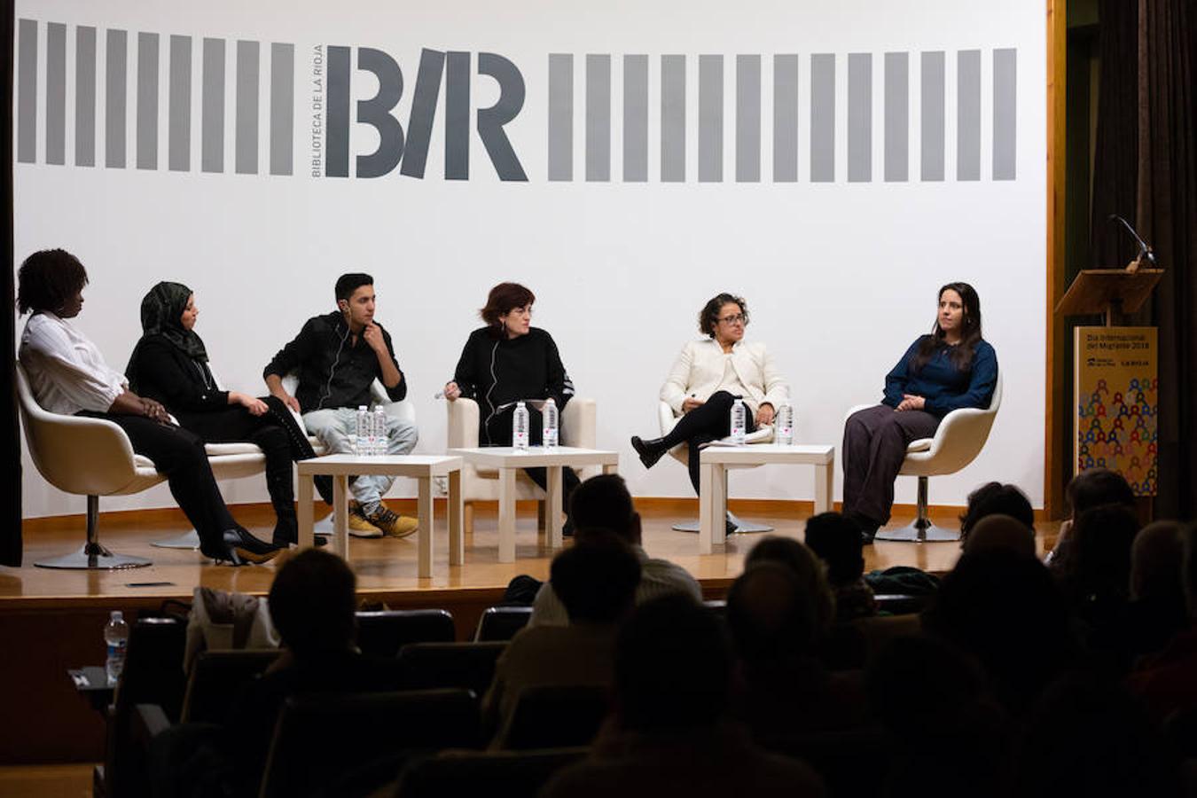
[[[1129,219],[1165,269],[1136,323],[1160,331],[1156,518],[1197,516],[1197,0],[1101,0],[1093,165],[1095,267],[1135,248]]]

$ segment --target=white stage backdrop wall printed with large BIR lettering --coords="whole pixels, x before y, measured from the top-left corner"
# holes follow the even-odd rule
[[[146,291],[188,285],[223,383],[255,394],[305,319],[335,309],[336,275],[371,273],[430,453],[445,447],[435,395],[488,288],[524,282],[637,495],[692,495],[670,461],[640,468],[628,437],[658,434],[661,383],[710,297],[747,299],[797,439],[838,445],[845,410],[879,400],[930,329],[938,287],[964,280],[1003,373],[992,440],[1041,441],[1043,12],[18,1],[17,260],[83,260],[77,323],[116,367]],[[24,463],[26,512],[77,511]],[[934,501],[991,479],[1040,505],[1041,449],[991,443],[936,477]],[[260,482],[223,489],[255,501]],[[814,487],[757,469],[731,492]],[[169,504],[154,488],[105,506]]]

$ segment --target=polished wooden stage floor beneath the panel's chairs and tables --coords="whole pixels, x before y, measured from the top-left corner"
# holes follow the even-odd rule
[[[414,502],[393,501],[397,511],[414,513]],[[691,506],[693,505],[693,506]],[[438,595],[449,591],[493,591],[502,589],[512,577],[527,573],[537,579],[548,574],[552,550],[536,532],[534,505],[522,507],[518,518],[516,561],[498,562],[497,517],[493,507],[480,506],[475,513],[474,531],[466,538],[466,564],[448,564],[448,536],[444,507],[437,512],[435,567],[431,579],[415,575],[415,540],[356,540],[350,541],[350,562],[358,574],[358,589],[365,596],[395,592],[427,593],[435,603]],[[731,508],[743,518],[772,524],[777,535],[802,538],[809,504],[752,502]],[[697,500],[645,500],[639,510],[644,524],[644,548],[651,556],[666,558],[689,571],[704,586],[725,589],[743,571],[745,554],[762,535],[737,535],[728,540],[723,550],[700,556],[698,536],[678,532],[674,523],[697,517]],[[959,511],[932,513],[936,522],[958,525]],[[269,540],[273,514],[268,505],[242,505],[235,508],[238,520],[251,531]],[[891,526],[910,523],[909,510],[895,512]],[[78,548],[84,537],[81,517],[35,519],[25,524],[25,565],[20,568],[0,567],[0,611],[20,607],[65,608],[96,599],[186,598],[198,585],[261,593],[269,589],[274,565],[233,568],[214,566],[198,552],[163,549],[151,546],[154,540],[171,537],[188,529],[181,513],[174,511],[140,511],[102,516],[101,540],[122,554],[148,558],[153,565],[124,571],[54,571],[34,567],[36,560],[65,554]],[[1051,543],[1058,524],[1041,524],[1040,547]],[[719,547],[716,547],[718,549]],[[891,566],[915,566],[924,571],[943,572],[952,568],[959,556],[956,543],[887,543],[877,542],[865,548],[865,569]],[[146,583],[165,583],[151,584]],[[414,596],[411,598],[415,598]]]

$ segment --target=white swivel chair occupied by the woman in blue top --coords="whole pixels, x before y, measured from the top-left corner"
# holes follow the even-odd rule
[[[912,440],[906,446],[906,458],[898,474],[918,477],[918,517],[901,529],[880,530],[876,540],[912,541],[916,543],[960,540],[959,529],[936,526],[928,517],[928,477],[955,474],[977,459],[977,455],[980,453],[989,439],[989,431],[994,428],[994,419],[997,418],[997,409],[1001,404],[1002,372],[998,372],[989,407],[952,410],[940,421],[934,437]],[[873,406],[853,407],[847,412],[847,415],[868,407]],[[847,421],[847,416],[844,420]]]

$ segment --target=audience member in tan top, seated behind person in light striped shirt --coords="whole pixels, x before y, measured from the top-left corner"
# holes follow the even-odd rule
[[[499,656],[482,699],[482,715],[487,727],[497,730],[496,742],[502,742],[524,688],[610,684],[615,632],[634,605],[639,583],[639,559],[613,535],[579,540],[553,558],[549,584],[570,622],[521,629]]]

